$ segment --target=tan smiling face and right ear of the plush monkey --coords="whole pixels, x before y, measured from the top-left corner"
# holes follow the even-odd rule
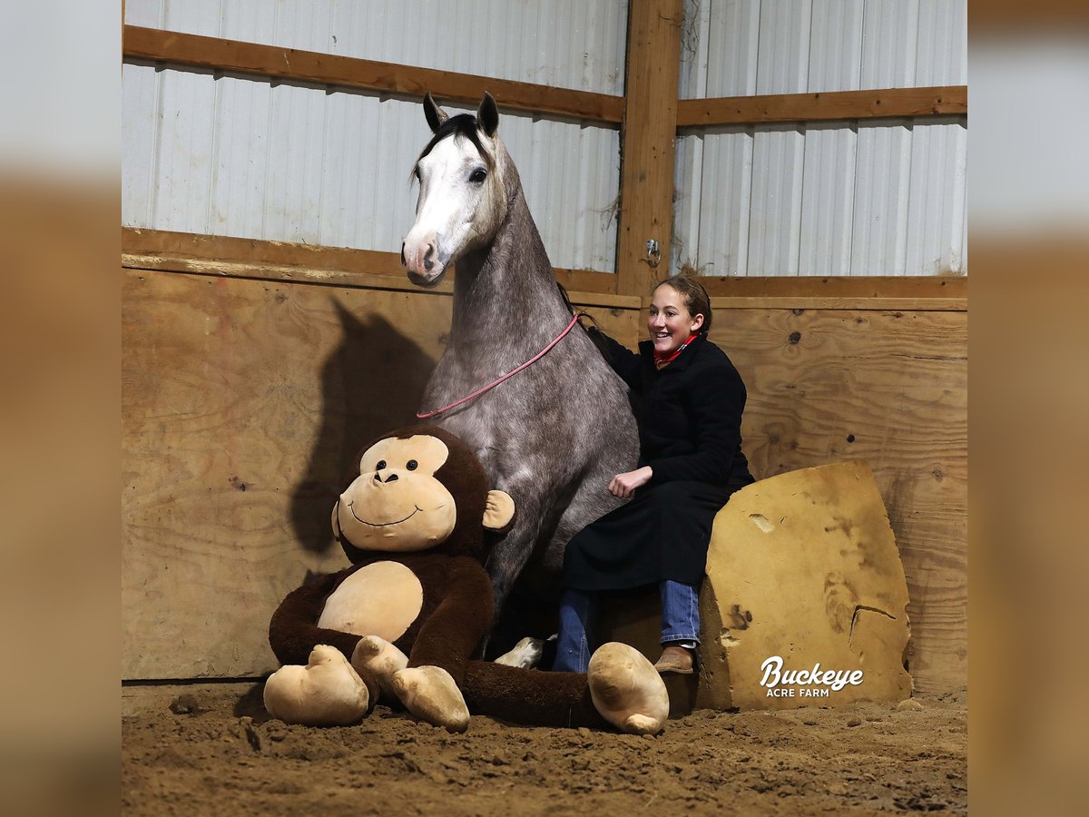
[[[467,473],[465,468],[443,470],[472,454],[467,448],[462,450],[461,440],[448,437],[448,444],[439,434],[386,437],[362,454],[359,476],[333,508],[333,533],[339,539],[358,550],[413,552],[444,542],[457,526],[460,513],[473,514],[477,525],[482,521],[491,529],[510,522],[513,502],[502,491],[487,490],[475,461],[476,467]],[[462,481],[468,477],[479,484],[448,486],[443,477],[453,473],[462,473]]]

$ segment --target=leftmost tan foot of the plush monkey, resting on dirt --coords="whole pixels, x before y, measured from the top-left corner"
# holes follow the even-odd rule
[[[284,723],[343,727],[367,714],[367,685],[335,647],[319,644],[305,667],[289,664],[265,682],[265,708]]]

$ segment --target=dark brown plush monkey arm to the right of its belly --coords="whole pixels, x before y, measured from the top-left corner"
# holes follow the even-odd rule
[[[465,663],[491,625],[494,595],[488,572],[475,559],[454,557],[446,592],[416,636],[409,667],[441,667],[462,683]]]

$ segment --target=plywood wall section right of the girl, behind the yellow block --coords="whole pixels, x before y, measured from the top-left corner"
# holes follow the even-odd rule
[[[907,576],[916,688],[967,683],[967,313],[717,308],[711,337],[748,387],[757,478],[870,463]]]

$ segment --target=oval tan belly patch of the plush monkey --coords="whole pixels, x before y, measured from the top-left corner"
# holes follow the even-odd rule
[[[400,562],[375,562],[341,582],[326,599],[319,627],[378,635],[392,643],[424,608],[424,587]]]

